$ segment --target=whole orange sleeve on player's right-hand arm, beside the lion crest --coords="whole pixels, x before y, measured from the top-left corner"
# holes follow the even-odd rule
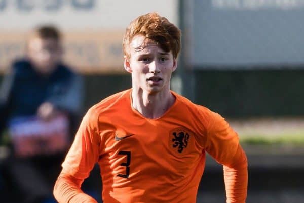
[[[247,196],[247,158],[238,134],[219,114],[211,112],[207,125],[206,151],[224,169],[227,202],[243,203]]]

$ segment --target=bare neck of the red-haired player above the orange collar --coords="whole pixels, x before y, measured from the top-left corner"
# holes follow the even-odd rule
[[[175,102],[170,90],[157,93],[132,89],[132,106],[146,118],[161,117]]]

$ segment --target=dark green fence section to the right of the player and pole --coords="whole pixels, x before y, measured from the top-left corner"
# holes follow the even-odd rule
[[[304,115],[304,70],[196,71],[195,102],[226,117]]]

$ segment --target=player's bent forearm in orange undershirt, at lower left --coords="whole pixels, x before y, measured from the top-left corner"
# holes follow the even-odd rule
[[[97,203],[91,196],[85,194],[81,188],[82,180],[61,173],[55,183],[54,196],[60,203],[90,202]]]

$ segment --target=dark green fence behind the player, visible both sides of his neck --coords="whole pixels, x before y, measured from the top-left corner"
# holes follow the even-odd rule
[[[186,74],[186,73],[185,73]],[[193,77],[193,78],[189,78]],[[85,75],[84,112],[103,98],[131,87],[130,74]],[[194,102],[225,117],[304,115],[304,70],[200,70]]]

